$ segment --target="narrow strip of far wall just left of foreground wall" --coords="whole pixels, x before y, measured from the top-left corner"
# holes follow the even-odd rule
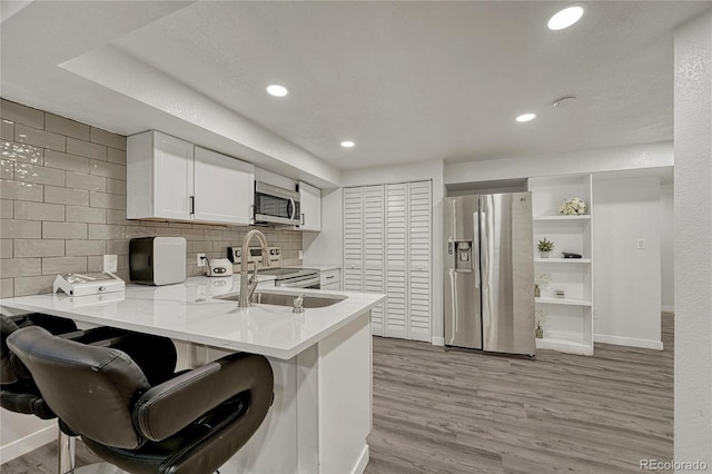
[[[660,303],[663,312],[675,310],[673,185],[660,186]]]

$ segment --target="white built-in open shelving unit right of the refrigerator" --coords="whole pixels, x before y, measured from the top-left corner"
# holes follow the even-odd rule
[[[593,203],[592,176],[571,175],[528,179],[534,218],[534,255],[537,243],[547,238],[554,243],[550,258],[534,258],[536,283],[541,296],[535,298],[536,310],[543,315],[544,337],[536,339],[537,348],[574,354],[593,354]],[[578,197],[586,211],[578,216],[561,216],[558,206],[567,198]],[[562,258],[562,251],[582,258]],[[564,297],[556,297],[563,290]]]

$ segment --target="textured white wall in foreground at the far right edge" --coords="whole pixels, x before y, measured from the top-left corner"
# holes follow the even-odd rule
[[[674,42],[674,458],[712,466],[712,9]]]

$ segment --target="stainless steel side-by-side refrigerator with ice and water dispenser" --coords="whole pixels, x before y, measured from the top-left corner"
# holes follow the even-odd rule
[[[534,355],[532,195],[444,199],[445,345]]]

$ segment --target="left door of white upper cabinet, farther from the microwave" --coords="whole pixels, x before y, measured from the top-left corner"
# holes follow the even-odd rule
[[[194,146],[154,131],[154,216],[192,219]]]

